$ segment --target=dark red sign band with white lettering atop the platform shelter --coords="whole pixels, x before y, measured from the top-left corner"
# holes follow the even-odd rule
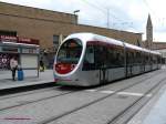
[[[39,40],[37,39],[10,37],[10,35],[0,35],[0,42],[39,44]]]

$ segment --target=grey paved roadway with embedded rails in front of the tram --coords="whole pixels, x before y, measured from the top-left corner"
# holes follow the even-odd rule
[[[0,97],[0,124],[125,124],[165,85],[166,70],[93,89],[54,86]]]

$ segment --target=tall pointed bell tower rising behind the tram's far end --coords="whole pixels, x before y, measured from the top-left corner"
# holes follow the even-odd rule
[[[152,50],[153,48],[153,23],[151,16],[148,14],[147,24],[146,24],[146,42],[145,48]]]

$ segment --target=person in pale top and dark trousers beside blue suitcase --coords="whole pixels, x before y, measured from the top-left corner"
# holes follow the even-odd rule
[[[11,72],[12,72],[12,80],[15,81],[15,71],[17,71],[17,68],[18,68],[18,61],[17,59],[13,56],[11,58],[10,60],[10,69],[11,69]]]

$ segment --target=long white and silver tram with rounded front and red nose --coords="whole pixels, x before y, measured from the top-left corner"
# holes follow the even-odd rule
[[[54,59],[58,84],[91,86],[160,69],[162,56],[93,33],[69,35]]]

